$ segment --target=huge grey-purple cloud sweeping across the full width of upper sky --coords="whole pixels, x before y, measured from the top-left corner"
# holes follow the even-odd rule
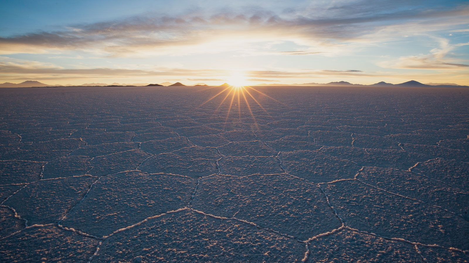
[[[125,57],[264,51],[278,55],[346,52],[353,43],[377,43],[390,35],[465,24],[469,6],[402,8],[399,1],[334,3],[318,9],[274,14],[261,8],[180,17],[140,15],[114,21],[77,24],[63,30],[0,37],[0,54],[83,51]],[[314,9],[316,8],[316,9]],[[314,11],[314,12],[313,12]],[[413,23],[414,26],[403,26]],[[279,40],[308,46],[306,51],[265,51],[250,45]],[[310,51],[311,50],[311,51]]]

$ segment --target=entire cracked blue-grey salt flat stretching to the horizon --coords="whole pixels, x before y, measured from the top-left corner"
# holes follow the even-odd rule
[[[224,89],[1,89],[0,261],[468,262],[468,89]]]

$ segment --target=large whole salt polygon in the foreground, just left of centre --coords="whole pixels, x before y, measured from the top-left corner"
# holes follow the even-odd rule
[[[188,205],[197,180],[127,172],[100,178],[61,224],[95,236]],[[126,187],[120,187],[122,184]]]

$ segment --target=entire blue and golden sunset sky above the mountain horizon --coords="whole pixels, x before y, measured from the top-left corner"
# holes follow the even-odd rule
[[[6,0],[0,83],[469,85],[469,2]]]

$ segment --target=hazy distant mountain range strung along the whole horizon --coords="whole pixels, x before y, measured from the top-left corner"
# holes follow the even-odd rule
[[[149,83],[133,83],[133,84],[126,84],[126,83],[113,83],[111,85],[108,85],[106,83],[84,83],[82,85],[49,85],[49,84],[44,84],[36,80],[26,80],[21,83],[10,83],[10,82],[5,82],[0,84],[0,88],[30,88],[30,87],[109,87],[109,86],[187,86],[182,84],[181,82],[176,82],[172,84],[171,82],[163,82],[160,84],[149,84]],[[208,86],[205,83],[197,83],[194,86]],[[229,84],[224,83],[221,84],[220,86],[229,86]],[[461,86],[455,83],[420,83],[415,80],[410,80],[404,83],[399,83],[399,84],[392,84],[392,83],[386,83],[384,81],[371,84],[371,85],[362,85],[362,84],[352,84],[347,81],[336,81],[336,82],[329,82],[329,83],[295,83],[295,84],[257,84],[257,85],[252,85],[252,86],[302,86],[302,87],[315,87],[315,86],[321,86],[321,87],[439,87],[439,88],[469,88],[469,86]]]

